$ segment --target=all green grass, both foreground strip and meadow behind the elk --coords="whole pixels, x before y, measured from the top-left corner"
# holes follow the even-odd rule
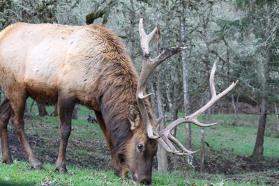
[[[31,100],[28,100],[30,107]],[[47,107],[47,111],[51,113],[53,107]],[[84,157],[86,161],[93,161],[90,155],[103,157],[103,151],[98,146],[105,146],[107,144],[103,137],[100,127],[95,124],[87,123],[88,115],[93,114],[92,111],[86,107],[80,107],[79,120],[73,120],[73,132],[71,134],[67,157]],[[45,143],[54,143],[52,141],[59,141],[59,119],[58,117],[40,117],[36,105],[33,111],[27,113],[29,115],[26,123],[27,136],[40,135],[49,141]],[[180,117],[183,114],[180,114]],[[212,115],[212,121],[220,123],[219,125],[208,127],[205,129],[205,141],[210,147],[206,147],[206,156],[211,157],[218,152],[220,156],[236,156],[252,154],[255,145],[255,138],[257,135],[257,120],[258,116],[239,114],[239,120],[234,122],[232,114],[218,114]],[[199,121],[201,119],[199,118]],[[268,116],[268,123],[266,130],[270,130],[264,138],[264,156],[266,158],[279,159],[279,143],[278,137],[273,132],[273,126],[276,125],[275,116]],[[234,123],[235,126],[232,124]],[[193,148],[194,150],[200,147],[200,128],[192,125],[193,130]],[[13,128],[8,125],[9,130]],[[184,134],[185,127],[179,125],[178,139],[185,141]],[[79,146],[73,146],[79,141]],[[184,143],[184,142],[183,142]],[[55,144],[55,143],[54,143]],[[85,148],[92,148],[89,152]],[[33,146],[35,153],[52,150],[58,151],[56,146],[49,147]],[[93,151],[93,152],[92,152]],[[48,151],[47,151],[48,152]],[[220,154],[221,153],[221,154]],[[195,155],[199,159],[199,155]],[[43,157],[42,157],[43,158]],[[101,159],[108,161],[107,159]],[[94,163],[94,162],[93,162]],[[97,162],[100,163],[100,162]],[[110,162],[108,162],[110,164]],[[0,185],[135,185],[129,180],[122,180],[114,176],[111,169],[85,169],[78,166],[68,166],[68,173],[60,174],[54,171],[54,164],[44,164],[45,170],[35,171],[30,169],[29,163],[25,161],[14,161],[12,165],[0,163]],[[270,172],[253,172],[253,173],[239,173],[233,176],[225,176],[222,174],[199,174],[196,171],[189,169],[181,169],[179,171],[172,171],[167,174],[160,174],[156,170],[153,171],[153,185],[265,185],[271,183],[279,183],[279,178],[272,175],[279,175],[279,169],[271,170]],[[276,182],[277,179],[277,182]]]

